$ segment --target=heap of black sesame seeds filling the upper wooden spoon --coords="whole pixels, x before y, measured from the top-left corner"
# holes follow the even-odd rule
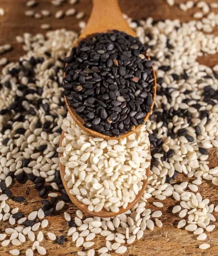
[[[148,45],[124,32],[81,41],[65,61],[64,95],[84,126],[119,137],[144,124],[154,96]]]

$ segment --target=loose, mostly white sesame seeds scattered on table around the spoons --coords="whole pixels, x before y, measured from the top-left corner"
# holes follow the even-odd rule
[[[22,173],[29,176],[33,174],[39,180],[46,180],[46,184],[51,184],[52,189],[59,189],[60,184],[56,183],[58,179],[54,180],[54,173],[58,171],[58,158],[52,156],[60,140],[60,126],[67,120],[66,117],[63,121],[66,113],[61,95],[63,89],[58,86],[63,77],[63,63],[60,59],[67,55],[76,37],[74,32],[64,29],[48,32],[46,38],[41,34],[32,36],[26,33],[17,38],[28,51],[20,61],[23,61],[22,67],[25,70],[30,68],[30,62],[25,60],[30,60],[32,56],[37,59],[34,80],[28,80],[23,70],[18,72],[17,63],[7,65],[0,77],[0,180],[4,181],[0,188],[0,221],[8,224],[0,234],[0,241],[3,247],[12,244],[9,252],[11,255],[23,253],[20,248],[27,241],[31,242],[31,246],[26,250],[26,256],[32,256],[36,252],[46,255],[46,248],[40,245],[44,239],[63,244],[64,239],[70,237],[72,246],[78,247],[79,256],[94,256],[97,251],[91,247],[98,239],[97,234],[105,237],[105,246],[98,250],[100,256],[109,256],[112,252],[125,253],[131,246],[129,244],[143,237],[146,229],[154,230],[155,225],[162,227],[160,209],[167,197],[175,200],[172,214],[179,220],[178,228],[192,232],[199,241],[200,249],[210,247],[207,234],[215,228],[213,212],[218,211],[218,206],[210,204],[209,198],[202,198],[198,190],[202,179],[211,183],[211,186],[218,186],[218,168],[209,169],[207,154],[209,148],[218,147],[218,74],[216,68],[212,70],[199,64],[197,58],[204,53],[217,53],[218,37],[204,35],[198,28],[197,21],[180,23],[179,20],[166,20],[153,23],[151,18],[139,20],[138,23],[131,19],[128,21],[140,40],[151,47],[149,55],[154,61],[158,83],[155,108],[146,124],[152,154],[146,191],[131,210],[114,218],[92,218],[83,216],[77,210],[74,220],[71,219],[72,212],[63,211],[65,204],[71,204],[64,201],[66,195],[63,194],[62,200],[57,193],[49,192],[49,204],[55,204],[56,201],[52,198],[56,198],[57,204],[53,208],[68,222],[68,238],[51,232],[52,227],[49,227],[46,215],[50,215],[53,208],[48,212],[42,206],[40,209],[33,209],[27,216],[19,212],[19,207],[11,209],[12,200],[23,200],[22,195],[10,198],[9,189],[13,180],[11,172],[16,179]],[[33,111],[26,115],[26,120],[21,118],[19,111],[12,111],[14,118],[18,119],[13,123],[9,119],[9,113],[3,111],[11,106],[16,97],[23,97],[22,88],[19,89],[20,85],[14,74],[18,74],[16,76],[22,84],[32,90],[32,95],[29,93],[26,96],[29,101],[36,102],[36,93],[33,92],[42,90],[41,96],[37,96],[39,99],[43,98],[40,108],[36,103],[31,105],[27,101],[21,102],[25,109],[23,113],[33,108],[37,120],[31,114]],[[48,113],[46,103],[49,104],[51,113]],[[49,132],[35,128],[38,119],[42,123],[49,121],[51,128],[55,123],[52,128],[54,130]],[[20,128],[26,131],[16,134],[15,131]],[[47,148],[40,154],[34,153],[42,145],[47,145]],[[27,167],[22,166],[24,158],[30,159]],[[191,182],[177,183],[174,179],[178,173],[186,175]],[[151,197],[155,199],[155,211],[146,208],[147,200]],[[57,236],[60,237],[57,239]]]

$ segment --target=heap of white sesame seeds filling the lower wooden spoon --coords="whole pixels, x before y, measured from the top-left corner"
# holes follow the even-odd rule
[[[69,192],[90,212],[119,212],[135,200],[150,166],[149,138],[143,125],[136,133],[118,140],[104,140],[81,131],[68,113],[63,120],[64,139],[57,152]]]

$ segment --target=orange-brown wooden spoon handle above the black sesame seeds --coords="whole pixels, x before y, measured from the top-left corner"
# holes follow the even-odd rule
[[[93,0],[92,13],[81,34],[82,38],[100,32],[112,32],[112,29],[136,36],[123,18],[118,0]]]

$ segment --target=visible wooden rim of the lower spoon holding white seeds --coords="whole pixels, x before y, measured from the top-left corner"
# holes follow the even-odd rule
[[[62,131],[62,134],[61,134],[61,137],[60,137],[60,146],[62,145],[62,140],[64,139],[64,132]],[[149,148],[149,154],[150,154],[150,148]],[[62,157],[63,154],[59,153],[59,167],[60,167],[60,176],[61,176],[61,179],[62,179],[62,182],[63,182],[63,186],[64,188],[66,189],[66,192],[67,194],[69,195],[69,198],[70,200],[82,211],[82,212],[85,212],[86,214],[88,215],[92,215],[92,216],[97,216],[97,217],[101,217],[101,218],[108,218],[108,217],[114,217],[118,214],[121,214],[123,212],[126,212],[128,211],[129,209],[131,209],[139,200],[140,198],[142,197],[143,195],[143,192],[146,188],[146,185],[147,185],[147,181],[148,179],[146,180],[143,180],[143,185],[142,185],[142,189],[138,192],[138,195],[136,195],[135,197],[135,200],[132,201],[131,203],[128,204],[128,206],[123,209],[123,207],[120,207],[119,209],[119,212],[108,212],[106,211],[106,209],[102,209],[100,212],[90,212],[89,209],[88,209],[88,206],[86,204],[83,204],[82,202],[80,202],[75,195],[72,195],[70,192],[69,192],[69,188],[67,186],[67,181],[64,179],[64,175],[65,175],[65,166],[60,163],[60,157]],[[149,162],[151,160],[148,160]],[[146,176],[149,177],[149,172],[150,172],[150,166],[146,169]]]

